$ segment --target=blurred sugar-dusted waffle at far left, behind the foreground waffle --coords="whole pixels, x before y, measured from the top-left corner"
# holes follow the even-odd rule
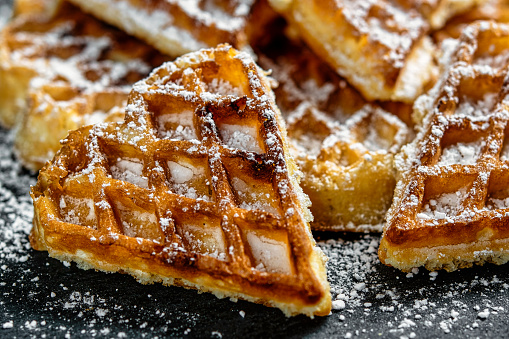
[[[131,85],[165,57],[72,5],[23,0],[17,13],[0,41],[0,122],[18,125],[16,154],[38,170],[69,130],[123,120]]]

